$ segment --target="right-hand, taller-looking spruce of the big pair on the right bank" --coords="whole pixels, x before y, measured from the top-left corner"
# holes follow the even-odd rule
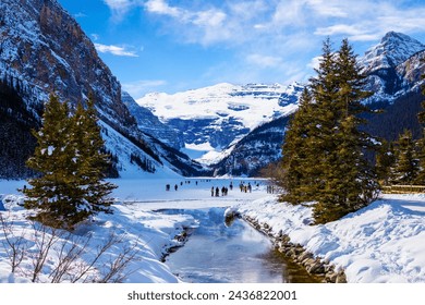
[[[369,111],[361,101],[371,93],[363,90],[364,76],[360,74],[356,57],[347,39],[335,60],[338,87],[332,101],[332,110],[336,111],[331,131],[335,148],[324,162],[326,185],[323,194],[323,202],[329,206],[330,219],[368,205],[375,199],[378,187],[375,171],[364,156],[365,149],[374,145],[371,136],[361,131],[365,121],[360,118],[360,114]]]

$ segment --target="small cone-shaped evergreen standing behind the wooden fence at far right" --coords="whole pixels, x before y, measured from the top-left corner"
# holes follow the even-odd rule
[[[393,168],[393,184],[412,184],[418,172],[418,162],[415,156],[415,143],[412,132],[405,130],[397,142],[396,164]]]

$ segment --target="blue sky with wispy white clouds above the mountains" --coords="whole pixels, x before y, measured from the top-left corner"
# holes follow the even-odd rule
[[[134,98],[217,83],[305,82],[330,37],[425,42],[423,0],[58,0]]]

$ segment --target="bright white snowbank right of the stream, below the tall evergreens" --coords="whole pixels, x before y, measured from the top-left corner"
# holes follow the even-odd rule
[[[384,196],[339,221],[309,225],[312,209],[269,196],[235,210],[342,268],[349,282],[425,282],[424,195]]]

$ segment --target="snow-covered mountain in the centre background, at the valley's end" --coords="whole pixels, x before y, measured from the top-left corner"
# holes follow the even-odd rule
[[[212,163],[226,157],[226,149],[258,125],[292,113],[302,88],[296,83],[223,83],[173,95],[148,94],[137,103],[181,132],[182,151],[201,162]]]

